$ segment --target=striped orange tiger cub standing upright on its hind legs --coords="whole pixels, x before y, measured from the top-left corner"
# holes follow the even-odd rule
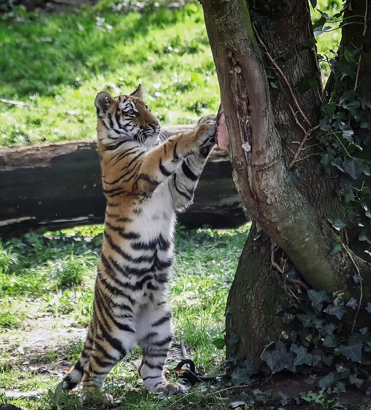
[[[214,146],[215,122],[160,141],[160,125],[142,100],[131,95],[95,99],[98,151],[107,200],[102,255],[95,284],[93,316],[81,355],[63,379],[65,389],[82,380],[86,397],[116,363],[138,344],[138,372],[147,390],[182,393],[168,383],[164,363],[173,336],[168,282],[174,260],[175,210],[193,199]]]

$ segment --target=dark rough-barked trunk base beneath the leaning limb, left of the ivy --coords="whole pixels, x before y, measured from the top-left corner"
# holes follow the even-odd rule
[[[227,343],[227,357],[242,354],[259,364],[267,342],[264,337],[283,329],[277,311],[287,304],[288,297],[280,275],[272,267],[271,249],[270,238],[263,232],[257,234],[253,222],[227,300],[227,335],[239,336],[236,344]]]

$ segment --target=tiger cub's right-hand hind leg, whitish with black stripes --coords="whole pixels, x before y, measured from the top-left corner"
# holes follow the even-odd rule
[[[164,376],[164,365],[173,335],[167,302],[146,305],[141,312],[139,323],[141,337],[138,344],[142,348],[143,357],[138,373],[146,389],[161,396],[184,393],[182,384],[169,383]]]

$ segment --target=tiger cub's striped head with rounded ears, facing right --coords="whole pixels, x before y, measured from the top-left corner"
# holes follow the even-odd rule
[[[98,117],[98,139],[103,144],[127,140],[141,145],[156,145],[160,125],[142,99],[142,85],[130,95],[112,97],[100,92],[94,102]]]

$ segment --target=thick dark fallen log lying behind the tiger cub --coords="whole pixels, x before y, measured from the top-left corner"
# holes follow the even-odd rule
[[[165,127],[171,135],[187,126]],[[34,229],[98,224],[104,219],[95,141],[0,148],[0,237]],[[225,152],[215,149],[195,192],[179,214],[187,228],[233,228],[247,221]]]

